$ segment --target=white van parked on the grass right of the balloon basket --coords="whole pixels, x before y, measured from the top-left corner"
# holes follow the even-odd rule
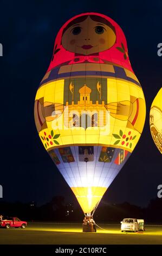
[[[123,231],[133,231],[137,232],[139,230],[144,231],[144,220],[137,220],[137,218],[124,218],[121,223],[121,232]]]

